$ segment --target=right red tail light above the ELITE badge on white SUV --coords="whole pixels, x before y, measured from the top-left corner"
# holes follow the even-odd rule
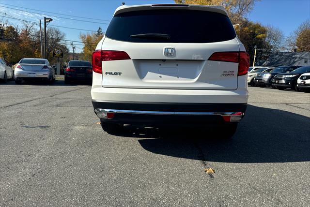
[[[238,62],[238,75],[248,73],[249,56],[247,52],[216,52],[208,60],[222,62]]]

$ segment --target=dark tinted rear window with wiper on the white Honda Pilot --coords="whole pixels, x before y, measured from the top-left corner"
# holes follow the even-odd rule
[[[155,35],[139,37],[141,34]],[[115,15],[109,24],[106,37],[139,43],[214,43],[232,40],[236,34],[226,15],[197,10],[164,9]]]

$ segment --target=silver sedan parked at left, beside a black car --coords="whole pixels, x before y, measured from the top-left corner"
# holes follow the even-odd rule
[[[20,84],[22,80],[41,80],[48,83],[55,81],[55,70],[47,59],[21,59],[16,65],[14,75],[16,84]]]

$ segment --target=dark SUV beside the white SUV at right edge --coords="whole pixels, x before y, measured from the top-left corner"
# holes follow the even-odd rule
[[[310,72],[310,66],[303,66],[295,69],[291,73],[276,74],[272,80],[272,85],[276,86],[280,90],[291,88],[298,91],[297,79],[301,74],[309,72]]]

